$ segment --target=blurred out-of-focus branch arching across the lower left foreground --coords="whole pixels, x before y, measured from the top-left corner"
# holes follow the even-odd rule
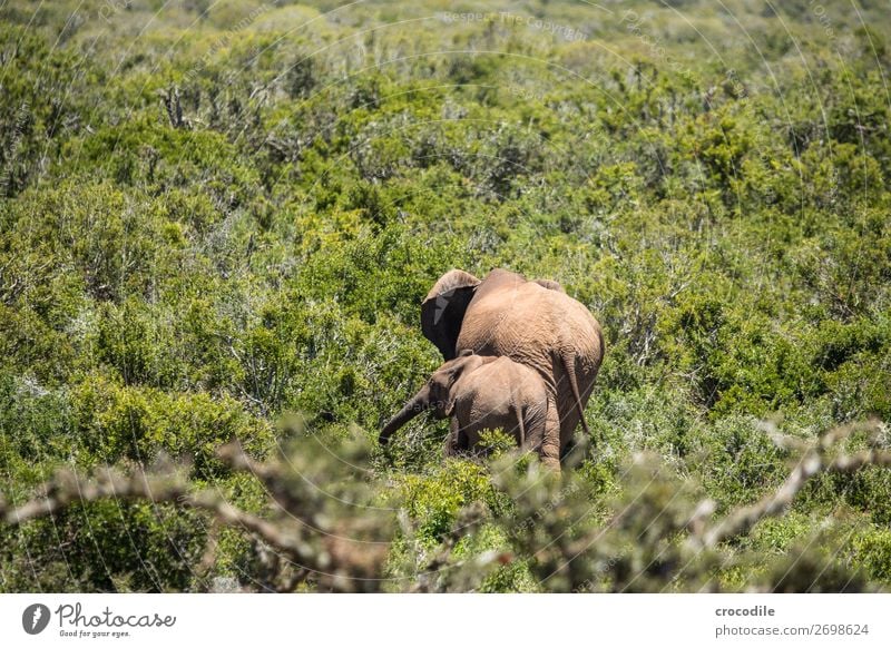
[[[386,524],[373,523],[369,514],[326,513],[331,502],[319,500],[319,487],[304,479],[294,458],[290,468],[255,462],[237,443],[222,448],[217,455],[233,470],[252,473],[263,482],[275,504],[270,519],[242,510],[218,491],[192,491],[180,475],[145,470],[125,475],[106,468],[89,479],[61,470],[38,489],[40,495],[18,507],[0,497],[0,520],[14,527],[106,499],[169,503],[205,511],[217,524],[246,531],[280,552],[282,556],[273,562],[277,570],[288,572],[277,575],[287,583],[282,589],[293,589],[310,577],[322,589],[335,591],[379,588],[378,576],[389,549],[389,539],[383,536]]]

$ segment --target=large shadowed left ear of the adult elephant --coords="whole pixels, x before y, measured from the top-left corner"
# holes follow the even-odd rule
[[[421,304],[421,331],[446,360],[456,356],[461,323],[478,285],[480,281],[470,273],[449,271],[439,278]]]

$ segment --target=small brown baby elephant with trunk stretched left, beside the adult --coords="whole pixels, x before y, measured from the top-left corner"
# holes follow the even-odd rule
[[[544,463],[559,470],[560,424],[542,377],[509,357],[464,351],[430,376],[381,431],[380,442],[424,410],[438,419],[451,416],[446,454],[472,449],[480,432],[501,428],[521,448],[535,450]]]

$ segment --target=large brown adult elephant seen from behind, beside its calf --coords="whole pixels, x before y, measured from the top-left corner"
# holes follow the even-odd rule
[[[556,401],[559,446],[542,458],[554,461],[567,449],[581,422],[604,359],[604,335],[597,320],[560,284],[527,281],[493,269],[482,281],[453,269],[440,277],[421,305],[421,328],[446,360],[466,350],[505,355],[536,370]]]

